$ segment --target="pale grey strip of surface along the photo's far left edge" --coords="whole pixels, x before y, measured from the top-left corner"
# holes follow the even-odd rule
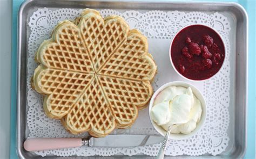
[[[0,0],[0,158],[9,158],[11,88],[11,0]]]

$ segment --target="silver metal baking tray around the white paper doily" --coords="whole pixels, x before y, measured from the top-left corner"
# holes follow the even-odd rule
[[[203,11],[219,12],[232,20],[234,32],[232,34],[231,46],[234,56],[234,83],[233,97],[231,103],[232,138],[230,148],[217,156],[182,156],[182,158],[241,158],[246,151],[246,118],[247,118],[247,61],[248,61],[248,17],[247,13],[237,3],[199,3],[199,2],[99,2],[99,1],[59,1],[59,0],[29,0],[24,2],[19,9],[18,15],[18,41],[17,41],[17,154],[20,158],[64,158],[58,156],[38,156],[25,151],[23,142],[26,138],[26,66],[27,66],[27,40],[28,40],[28,18],[38,8],[74,8],[74,9],[118,9],[118,10],[163,10],[163,11]],[[102,158],[145,158],[136,155],[132,157],[112,156]],[[165,158],[170,158],[166,156]],[[65,158],[83,158],[70,156]],[[101,158],[92,156],[86,158]],[[146,158],[155,158],[147,156]],[[176,156],[174,158],[180,158]]]

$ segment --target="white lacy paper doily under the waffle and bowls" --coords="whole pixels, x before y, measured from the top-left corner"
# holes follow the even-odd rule
[[[81,10],[75,9],[57,9],[47,8],[38,9],[33,12],[29,20],[30,34],[28,41],[28,107],[27,121],[28,138],[66,138],[75,137],[65,131],[58,120],[49,119],[43,111],[43,98],[37,92],[31,89],[30,78],[37,64],[34,61],[34,55],[38,46],[43,40],[49,39],[52,28],[60,20],[74,19],[79,16]],[[230,114],[228,106],[230,105],[230,23],[224,15],[220,13],[206,14],[203,12],[180,12],[180,11],[149,11],[140,13],[138,11],[118,12],[115,10],[100,10],[103,17],[109,15],[122,16],[131,28],[138,28],[149,40],[149,50],[158,64],[159,73],[153,84],[157,89],[165,82],[180,79],[173,69],[166,64],[165,59],[169,60],[168,52],[170,41],[174,34],[181,28],[190,24],[205,24],[212,26],[224,38],[226,44],[226,62],[224,68],[206,82],[197,83],[199,90],[203,91],[207,103],[207,118],[204,127],[187,140],[170,140],[166,155],[217,155],[223,152],[230,140],[227,135],[228,125],[230,123]],[[159,42],[160,41],[160,42]],[[163,55],[159,55],[163,53]],[[166,55],[167,54],[167,55]],[[168,56],[168,57],[167,57]],[[160,62],[158,62],[160,61]],[[161,62],[163,61],[163,62]],[[169,61],[166,61],[170,63]],[[167,67],[167,68],[166,68]],[[170,69],[171,79],[163,81],[161,68]],[[165,71],[165,70],[163,70]],[[177,76],[177,77],[176,77]],[[173,77],[173,78],[172,78]],[[113,134],[157,134],[150,124],[147,109],[140,111],[139,118],[130,129],[117,129]],[[86,136],[81,134],[80,136]],[[156,156],[160,144],[134,148],[91,148],[79,147],[58,150],[36,151],[41,156],[48,154],[57,156],[111,156],[115,154],[136,155],[145,154]]]

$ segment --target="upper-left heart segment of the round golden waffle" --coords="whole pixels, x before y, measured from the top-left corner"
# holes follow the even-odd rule
[[[51,44],[44,52],[44,61],[50,68],[93,73],[86,47],[75,25],[65,25],[57,34],[59,43]]]

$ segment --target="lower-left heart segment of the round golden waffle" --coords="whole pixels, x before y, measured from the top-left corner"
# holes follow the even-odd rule
[[[39,65],[32,79],[33,88],[44,95],[44,111],[55,119],[63,118],[91,83],[93,75],[74,73]]]

